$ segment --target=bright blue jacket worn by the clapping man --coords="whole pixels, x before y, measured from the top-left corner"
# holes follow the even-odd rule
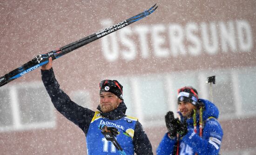
[[[188,133],[179,139],[179,155],[218,155],[222,141],[222,127],[217,121],[219,111],[217,107],[206,99],[199,99],[204,105],[202,114],[202,137],[194,132],[193,118],[187,119]],[[181,114],[180,114],[181,115]],[[183,121],[181,115],[181,121]],[[199,115],[196,115],[197,131],[199,131]],[[197,132],[198,133],[198,132]],[[164,135],[158,148],[157,155],[176,155],[177,137],[170,138],[168,133]]]

